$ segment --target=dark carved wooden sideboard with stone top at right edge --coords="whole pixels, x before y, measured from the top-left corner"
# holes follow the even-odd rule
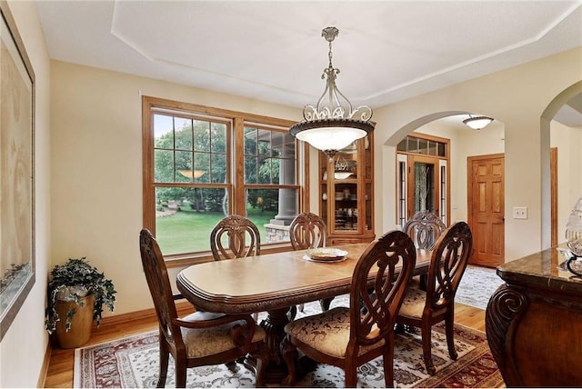
[[[487,342],[507,387],[582,384],[582,279],[556,248],[497,267]]]

